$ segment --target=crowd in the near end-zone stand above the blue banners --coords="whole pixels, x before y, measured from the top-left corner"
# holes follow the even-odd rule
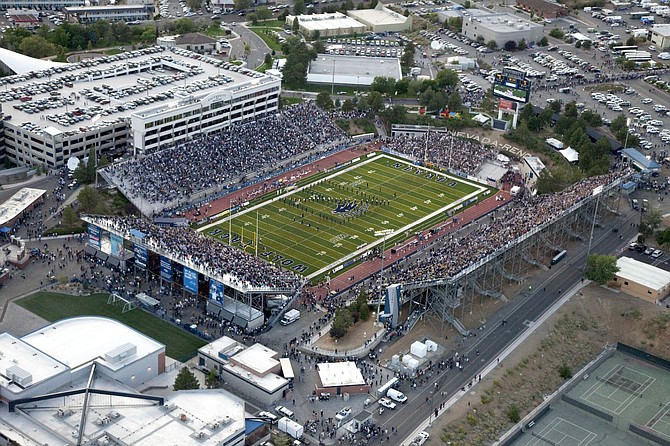
[[[100,217],[97,224],[111,226],[124,238],[130,238],[132,229],[140,231],[150,250],[183,259],[187,265],[194,265],[211,277],[227,279],[237,289],[299,286],[299,278],[295,274],[233,246],[224,245],[188,226],[158,226],[150,220],[133,216]]]

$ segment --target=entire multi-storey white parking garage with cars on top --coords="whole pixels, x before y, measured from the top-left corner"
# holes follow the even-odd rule
[[[153,151],[278,110],[281,81],[191,51],[154,47],[0,79],[7,157]]]

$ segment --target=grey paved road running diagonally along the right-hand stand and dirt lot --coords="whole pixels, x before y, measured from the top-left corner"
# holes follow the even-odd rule
[[[639,214],[627,213],[617,217],[613,222],[603,229],[596,229],[592,252],[618,253],[625,248],[628,240],[636,232],[630,227],[630,223],[637,222]],[[619,233],[615,236],[611,232],[612,227],[618,227]],[[622,239],[618,237],[622,236]],[[438,388],[427,385],[420,392],[408,392],[410,398],[402,410],[392,412],[390,415],[375,414],[375,418],[387,426],[396,426],[399,430],[399,438],[406,438],[417,426],[417,420],[426,420],[431,417],[432,412],[439,403],[447,401],[464,386],[467,387],[475,379],[487,364],[496,362],[497,358],[514,339],[520,336],[532,321],[550,308],[561,296],[561,291],[578,284],[582,278],[582,268],[586,263],[587,243],[583,242],[568,251],[564,263],[554,267],[547,273],[540,274],[536,280],[529,282],[533,286],[532,294],[522,293],[517,296],[512,304],[506,305],[501,311],[487,322],[487,328],[478,332],[477,337],[469,338],[459,351],[466,353],[470,361],[466,363],[462,372],[450,370],[446,374],[438,375],[432,382],[438,382]],[[505,319],[506,325],[501,321]],[[479,350],[479,356],[475,351]],[[469,353],[468,353],[469,352]],[[445,392],[445,396],[441,396]],[[428,400],[426,400],[428,398]]]

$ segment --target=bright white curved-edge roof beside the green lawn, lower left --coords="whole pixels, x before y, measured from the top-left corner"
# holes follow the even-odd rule
[[[55,322],[21,340],[73,369],[97,361],[118,370],[165,348],[118,321],[92,316]]]

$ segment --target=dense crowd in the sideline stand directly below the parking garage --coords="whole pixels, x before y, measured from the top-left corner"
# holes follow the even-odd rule
[[[346,134],[313,102],[195,137],[176,147],[104,169],[129,198],[177,204],[193,194],[267,178],[295,158],[346,142]]]

